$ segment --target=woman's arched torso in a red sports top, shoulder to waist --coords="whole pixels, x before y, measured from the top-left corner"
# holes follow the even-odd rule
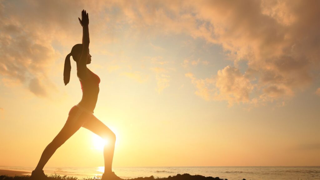
[[[80,80],[80,79],[79,79]],[[96,107],[99,94],[100,78],[91,70],[87,69],[87,78],[80,80],[82,89],[82,99],[79,105],[83,106],[89,111],[93,111]]]

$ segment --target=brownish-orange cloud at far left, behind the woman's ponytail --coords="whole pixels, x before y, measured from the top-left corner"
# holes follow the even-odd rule
[[[33,79],[46,78],[47,67],[56,57],[55,51],[50,44],[39,44],[39,37],[33,32],[13,23],[8,19],[0,22],[0,75],[6,77],[3,78],[6,82],[18,80],[32,93],[43,96],[45,94],[31,89]]]

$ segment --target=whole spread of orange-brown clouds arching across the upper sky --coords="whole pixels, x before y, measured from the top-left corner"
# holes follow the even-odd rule
[[[1,1],[0,73],[45,96],[47,71],[59,53],[52,41],[71,48],[74,14],[86,8],[99,41],[114,41],[127,25],[132,35],[187,34],[221,45],[232,60],[207,79],[188,73],[206,100],[260,103],[292,97],[313,83],[319,71],[319,1]],[[108,33],[106,33],[108,32]],[[70,47],[69,47],[70,46]],[[61,57],[60,57],[61,58]],[[195,66],[198,62],[188,62]],[[212,64],[205,61],[204,65]],[[244,63],[246,67],[239,66]],[[185,64],[186,65],[186,64]],[[241,73],[243,72],[243,73]],[[189,74],[191,73],[191,74]],[[137,73],[126,74],[136,77]],[[156,74],[157,91],[170,74]],[[141,81],[141,80],[140,80]]]

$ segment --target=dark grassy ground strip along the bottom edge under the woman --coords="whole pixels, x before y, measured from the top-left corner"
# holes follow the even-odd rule
[[[51,175],[48,177],[49,177],[49,180],[79,180],[76,177],[70,177],[70,176],[67,177],[67,176],[60,176],[60,175]],[[5,175],[0,176],[0,180],[28,180],[28,179],[29,179],[29,176],[14,176],[14,177],[5,176]],[[169,177],[163,177],[163,178],[158,178],[154,176],[138,177],[130,180],[155,180],[155,179],[157,180],[227,180],[227,179],[220,179],[219,177],[211,177],[211,176],[205,177],[201,175],[189,175],[189,174],[182,174],[182,175],[177,174],[176,176],[169,176]],[[99,179],[83,178],[81,180],[99,180]]]

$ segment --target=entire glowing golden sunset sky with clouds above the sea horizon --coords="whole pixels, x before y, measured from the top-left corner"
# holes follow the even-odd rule
[[[35,167],[82,96],[71,61],[89,13],[94,115],[114,167],[319,166],[320,1],[0,0],[0,165]],[[103,166],[81,128],[47,167]]]

